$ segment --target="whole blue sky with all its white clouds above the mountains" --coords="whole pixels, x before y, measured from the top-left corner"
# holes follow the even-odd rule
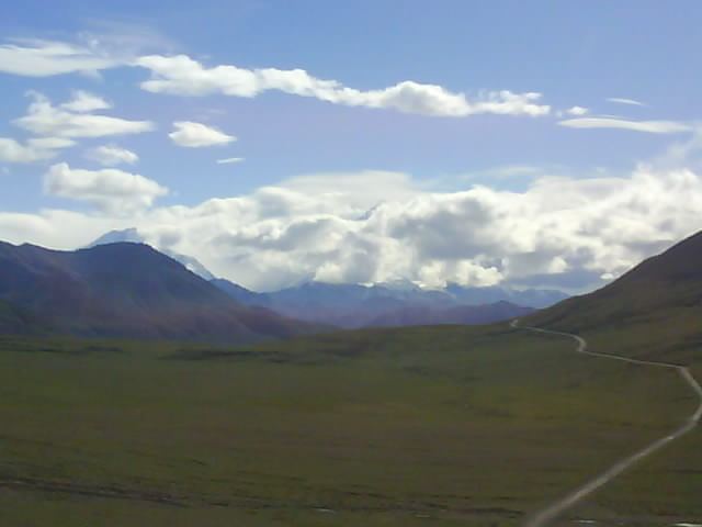
[[[702,226],[702,3],[27,0],[0,239],[135,227],[257,291],[584,292]]]

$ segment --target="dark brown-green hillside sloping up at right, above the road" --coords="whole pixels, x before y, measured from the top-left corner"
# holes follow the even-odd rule
[[[700,261],[702,233],[598,291],[525,317],[524,324],[584,334],[616,352],[702,363]]]

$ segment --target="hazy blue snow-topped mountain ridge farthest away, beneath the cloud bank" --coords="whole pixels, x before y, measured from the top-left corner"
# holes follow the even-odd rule
[[[112,231],[101,236],[88,247],[118,242],[145,243],[147,237],[136,228]],[[480,307],[487,314],[477,315],[480,310],[458,310],[461,306],[487,306],[507,302],[514,307],[545,307],[567,295],[555,290],[514,290],[501,287],[475,288],[449,283],[439,290],[419,288],[408,280],[395,280],[387,283],[361,285],[354,283],[325,283],[310,281],[279,291],[259,293],[240,284],[213,274],[195,257],[161,249],[163,254],[180,261],[191,271],[208,280],[240,304],[272,310],[287,317],[301,318],[310,323],[331,324],[343,328],[372,327],[386,325],[387,321],[406,321],[407,324],[440,324],[450,321],[492,322],[497,313],[519,313],[523,310]],[[454,310],[452,312],[452,310]],[[462,312],[465,316],[457,316]],[[471,313],[468,316],[467,313]],[[423,315],[420,315],[423,313]],[[464,322],[478,323],[478,322]]]

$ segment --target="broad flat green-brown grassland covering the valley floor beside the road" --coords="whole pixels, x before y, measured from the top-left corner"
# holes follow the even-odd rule
[[[519,525],[694,406],[675,372],[571,347],[507,325],[229,348],[5,337],[0,525]],[[581,514],[702,515],[699,438]]]

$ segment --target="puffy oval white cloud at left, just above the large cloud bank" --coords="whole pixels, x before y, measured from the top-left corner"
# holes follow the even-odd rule
[[[44,178],[49,195],[91,203],[110,214],[128,214],[146,209],[168,193],[156,181],[114,168],[102,170],[71,169],[66,162],[50,167]]]

